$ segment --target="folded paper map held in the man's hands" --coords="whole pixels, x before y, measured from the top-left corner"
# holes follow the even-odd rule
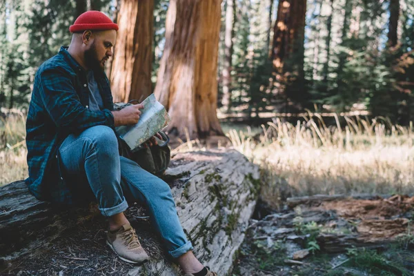
[[[165,128],[171,120],[164,106],[151,94],[143,102],[144,108],[137,124],[133,126],[118,126],[117,132],[129,146],[130,150],[135,150],[139,146],[154,136],[159,130]]]

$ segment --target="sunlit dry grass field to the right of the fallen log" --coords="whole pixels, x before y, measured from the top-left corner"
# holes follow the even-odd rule
[[[266,173],[267,197],[338,193],[414,193],[413,124],[393,126],[384,118],[321,117],[297,124],[276,119],[259,139],[230,131],[233,146]],[[258,141],[257,141],[258,140]],[[283,197],[283,196],[282,196]]]

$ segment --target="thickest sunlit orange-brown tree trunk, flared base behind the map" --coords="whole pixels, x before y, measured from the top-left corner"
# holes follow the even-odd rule
[[[172,0],[155,86],[171,116],[168,131],[190,139],[223,135],[217,119],[221,0]]]

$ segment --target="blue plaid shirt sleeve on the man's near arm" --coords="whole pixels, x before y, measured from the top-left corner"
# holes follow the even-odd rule
[[[69,72],[52,68],[41,72],[40,78],[41,100],[57,128],[72,133],[104,125],[115,130],[110,110],[92,111],[82,105]]]

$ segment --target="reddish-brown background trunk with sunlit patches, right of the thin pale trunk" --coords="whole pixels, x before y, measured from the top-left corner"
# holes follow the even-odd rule
[[[293,53],[303,55],[301,52],[304,51],[305,17],[306,0],[279,1],[272,52],[273,66],[279,73],[284,73],[284,61],[292,57]],[[299,70],[300,67],[303,70],[303,60],[297,66]]]

